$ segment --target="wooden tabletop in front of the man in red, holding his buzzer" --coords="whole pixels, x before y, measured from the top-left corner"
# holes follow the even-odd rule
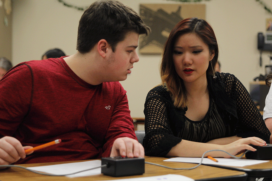
[[[162,157],[145,157],[146,162],[152,162],[156,164],[165,165],[168,167],[175,168],[189,168],[194,167],[197,164],[191,163],[180,163],[180,162],[165,162],[167,158]],[[35,166],[45,166],[53,164],[63,164],[63,163],[72,163],[79,161],[70,161],[70,162],[53,162],[53,163],[39,163],[39,164],[21,164],[24,167],[35,167]],[[94,180],[114,180],[114,179],[127,179],[127,178],[138,178],[138,177],[148,177],[148,176],[158,176],[166,174],[180,174],[190,178],[193,178],[198,181],[245,181],[247,179],[247,174],[242,171],[228,170],[218,167],[210,167],[206,165],[200,165],[199,167],[193,170],[170,170],[163,167],[158,167],[155,165],[145,164],[145,173],[142,175],[135,176],[125,176],[125,177],[111,177],[105,176],[104,174],[94,175],[94,176],[85,176],[85,177],[75,177],[69,178],[65,176],[44,176],[37,173],[32,173],[27,170],[20,168],[8,168],[5,170],[0,170],[0,180],[1,181],[94,181]]]

